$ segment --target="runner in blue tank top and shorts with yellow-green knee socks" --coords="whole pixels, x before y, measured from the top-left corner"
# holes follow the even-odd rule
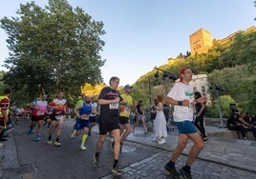
[[[85,96],[85,101],[83,101],[82,104],[75,107],[74,112],[76,115],[76,123],[75,123],[75,129],[71,134],[71,138],[74,138],[75,135],[79,135],[81,133],[81,130],[83,132],[82,138],[81,138],[81,150],[85,150],[84,143],[87,140],[88,132],[90,128],[90,122],[89,122],[89,115],[92,111],[92,105],[91,100],[89,96]]]

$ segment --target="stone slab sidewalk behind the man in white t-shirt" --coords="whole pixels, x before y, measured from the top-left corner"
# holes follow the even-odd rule
[[[218,127],[206,127],[210,132],[224,132],[227,129]],[[135,133],[128,136],[129,141],[140,143],[155,148],[173,151],[178,142],[178,131],[174,129],[168,133],[166,144],[159,145],[153,142],[154,132],[144,134],[142,129],[137,129]],[[184,155],[187,155],[193,143],[188,142],[187,147],[183,150]],[[203,151],[198,156],[203,161],[208,161],[216,164],[222,164],[235,169],[243,169],[256,173],[256,141],[229,139],[221,137],[209,137],[208,142],[204,145]]]

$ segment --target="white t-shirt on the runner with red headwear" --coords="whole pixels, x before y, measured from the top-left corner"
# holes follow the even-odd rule
[[[193,88],[189,85],[185,85],[181,82],[176,83],[173,88],[168,92],[168,97],[173,98],[176,101],[183,101],[188,99],[190,103],[194,100]],[[193,106],[188,107],[174,106],[173,111],[174,121],[193,121]]]

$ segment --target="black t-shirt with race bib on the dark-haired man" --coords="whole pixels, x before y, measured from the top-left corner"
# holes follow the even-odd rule
[[[116,89],[106,87],[100,91],[98,99],[114,100],[121,98]],[[117,123],[119,116],[119,103],[111,103],[107,105],[100,105],[100,114],[98,118],[99,123]]]

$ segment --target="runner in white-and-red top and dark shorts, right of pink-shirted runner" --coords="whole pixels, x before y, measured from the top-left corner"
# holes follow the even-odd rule
[[[67,111],[67,100],[63,98],[64,92],[59,91],[57,98],[53,99],[53,102],[49,104],[49,108],[53,109],[53,114],[51,115],[51,127],[49,129],[49,137],[47,144],[52,144],[53,130],[56,129],[56,138],[54,146],[60,147],[59,137],[63,128],[63,121],[65,119],[65,114]]]

